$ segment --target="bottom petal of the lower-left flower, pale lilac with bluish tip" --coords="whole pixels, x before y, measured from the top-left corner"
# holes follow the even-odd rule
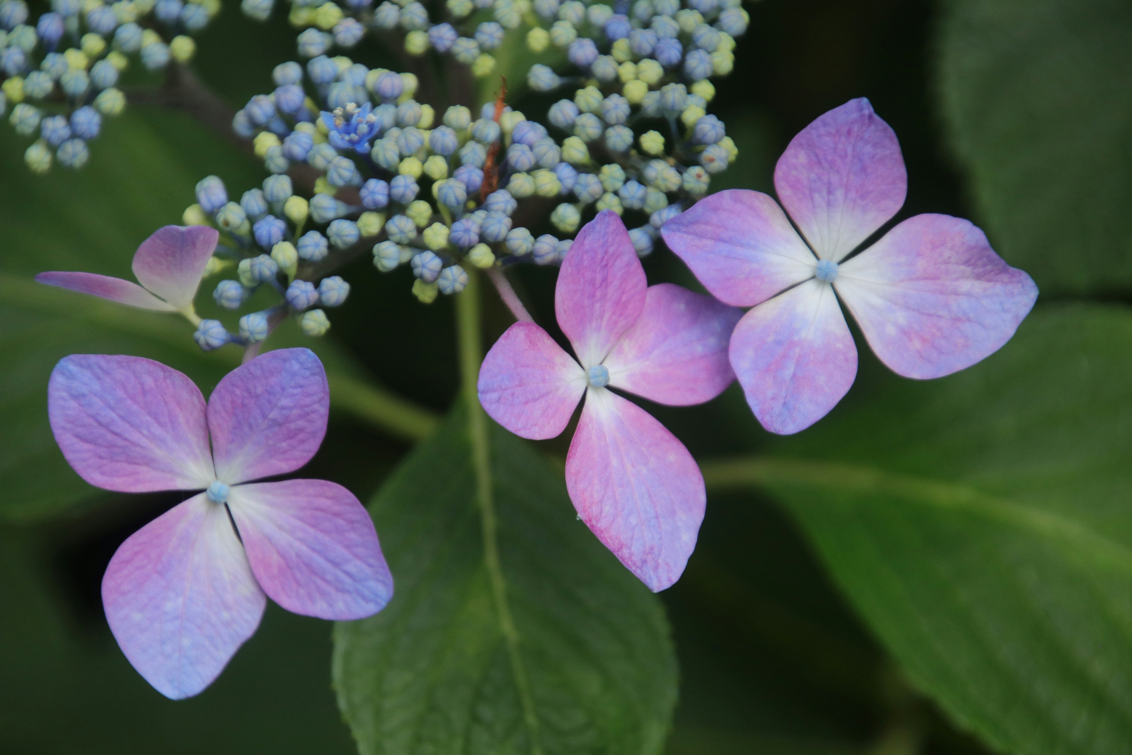
[[[106,621],[138,674],[173,700],[213,683],[267,599],[223,506],[204,494],[121,544],[102,577]]]

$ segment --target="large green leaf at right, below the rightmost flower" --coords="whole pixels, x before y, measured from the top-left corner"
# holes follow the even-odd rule
[[[714,490],[777,494],[914,684],[962,727],[1024,755],[1125,752],[1129,375],[1132,312],[1039,310],[969,370],[875,379],[770,457],[704,475]]]

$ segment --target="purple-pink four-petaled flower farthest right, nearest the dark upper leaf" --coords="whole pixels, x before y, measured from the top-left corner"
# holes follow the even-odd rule
[[[1034,307],[1030,276],[959,217],[916,215],[849,257],[897,214],[908,190],[897,135],[868,100],[798,134],[779,158],[774,187],[789,218],[765,194],[735,189],[661,231],[711,293],[753,307],[731,336],[730,359],[772,432],[809,427],[852,385],[857,349],[838,299],[881,361],[918,379],[994,353]]]

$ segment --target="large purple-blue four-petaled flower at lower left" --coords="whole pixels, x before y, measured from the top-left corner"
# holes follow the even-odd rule
[[[381,610],[393,580],[369,514],[292,472],[318,451],[326,374],[306,349],[258,357],[208,403],[188,377],[137,357],[74,354],[48,388],[51,429],[91,484],[203,490],[130,535],[102,580],[106,620],[134,668],[174,700],[212,684],[267,597],[324,619]]]

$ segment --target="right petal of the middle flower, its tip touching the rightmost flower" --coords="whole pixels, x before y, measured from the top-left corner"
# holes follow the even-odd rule
[[[727,348],[743,310],[671,283],[649,286],[644,311],[603,362],[609,384],[687,406],[731,385]]]

